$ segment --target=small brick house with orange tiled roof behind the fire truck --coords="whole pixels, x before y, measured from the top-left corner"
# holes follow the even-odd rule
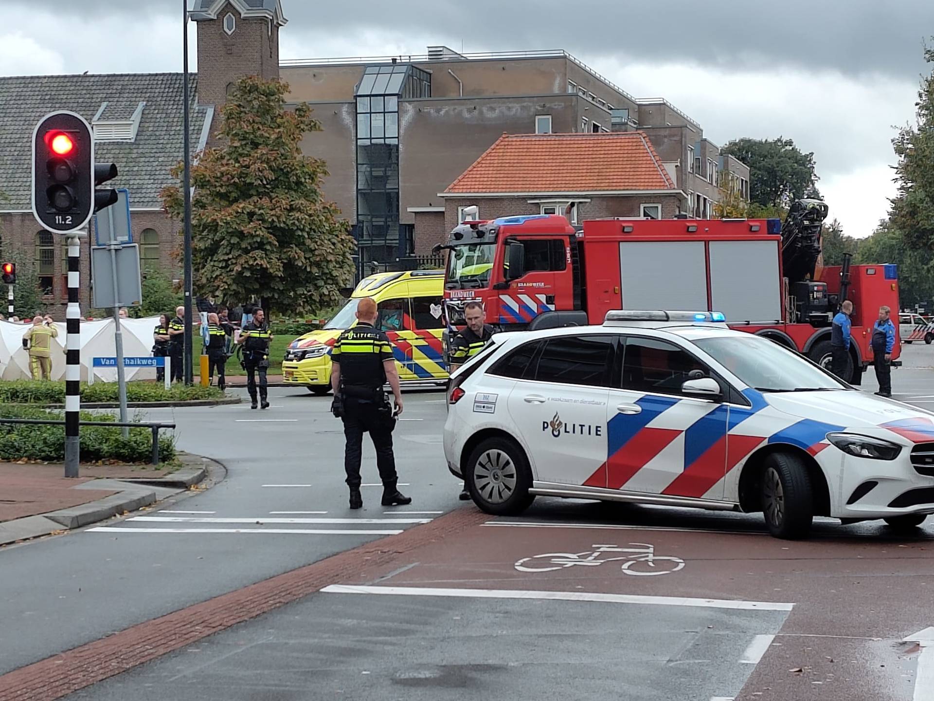
[[[684,196],[644,132],[503,135],[438,193],[444,211],[415,213],[416,252],[447,240],[466,207],[480,219],[562,214],[572,223],[604,217],[671,219]]]

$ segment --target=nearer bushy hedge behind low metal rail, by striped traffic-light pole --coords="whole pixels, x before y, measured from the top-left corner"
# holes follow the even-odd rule
[[[4,407],[4,419],[62,420],[64,413],[33,407]],[[112,422],[113,416],[81,412],[81,421]],[[81,426],[81,462],[114,461],[119,463],[149,463],[152,457],[152,431],[131,428],[124,438],[114,426]],[[176,456],[175,437],[161,431],[159,455],[163,463]],[[57,463],[64,460],[64,426],[0,423],[0,460],[35,460]]]

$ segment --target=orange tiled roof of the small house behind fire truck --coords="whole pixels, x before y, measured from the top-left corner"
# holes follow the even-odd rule
[[[643,132],[503,135],[446,193],[673,190]]]

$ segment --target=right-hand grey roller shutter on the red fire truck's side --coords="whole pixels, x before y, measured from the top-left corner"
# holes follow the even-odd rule
[[[713,307],[728,323],[782,321],[778,241],[711,241]]]

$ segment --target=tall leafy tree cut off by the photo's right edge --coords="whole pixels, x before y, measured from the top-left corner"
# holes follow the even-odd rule
[[[925,49],[925,60],[934,64],[934,50]],[[905,245],[934,250],[934,70],[921,80],[916,107],[917,124],[900,129],[892,141],[899,194],[891,220]]]

